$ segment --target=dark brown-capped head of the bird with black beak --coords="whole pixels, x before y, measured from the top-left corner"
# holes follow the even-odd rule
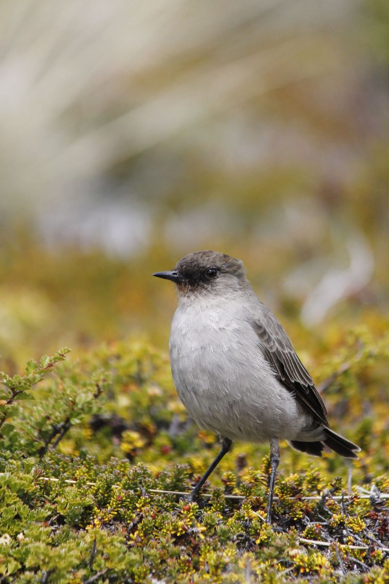
[[[243,262],[225,253],[201,251],[188,253],[171,272],[156,272],[158,278],[173,281],[178,294],[225,294],[246,281]]]

